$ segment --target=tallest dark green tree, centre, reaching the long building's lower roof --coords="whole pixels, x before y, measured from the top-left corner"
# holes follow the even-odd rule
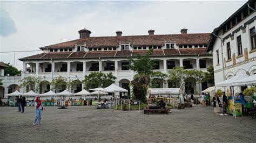
[[[132,98],[145,102],[147,95],[147,87],[151,81],[152,69],[154,67],[154,60],[150,59],[153,53],[153,49],[150,49],[145,56],[137,55],[137,60],[133,60],[131,57],[127,58],[130,61],[129,69],[134,70],[138,74],[134,76],[131,84]]]

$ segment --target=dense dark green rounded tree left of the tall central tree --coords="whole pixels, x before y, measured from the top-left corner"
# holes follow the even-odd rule
[[[112,73],[104,74],[102,72],[93,72],[89,75],[84,76],[82,83],[84,84],[84,89],[92,88],[106,88],[114,81],[117,77],[113,76]]]

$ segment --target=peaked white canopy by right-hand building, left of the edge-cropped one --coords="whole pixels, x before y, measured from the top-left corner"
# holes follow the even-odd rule
[[[238,75],[226,80],[226,81],[222,81],[219,82],[217,84],[215,84],[215,87],[231,87],[233,86],[233,82],[238,81],[238,80],[242,80],[244,78],[248,77],[247,74],[244,73],[239,73]]]

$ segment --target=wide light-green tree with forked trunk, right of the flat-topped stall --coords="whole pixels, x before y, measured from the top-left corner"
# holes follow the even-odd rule
[[[183,67],[175,67],[168,71],[169,73],[169,80],[170,81],[177,81],[179,88],[181,91],[183,91],[183,94],[185,94],[185,86],[188,83],[187,81],[189,78],[194,78],[194,80],[198,83],[202,82],[202,79],[205,77],[205,73],[201,70],[192,69],[187,70]],[[193,87],[193,84],[190,85],[190,87]]]

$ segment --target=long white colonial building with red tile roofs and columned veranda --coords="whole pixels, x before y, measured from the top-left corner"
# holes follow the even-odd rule
[[[113,73],[117,77],[116,84],[129,89],[134,72],[126,68],[129,64],[127,57],[136,58],[137,54],[144,55],[153,49],[152,59],[156,66],[154,70],[167,73],[173,67],[200,69],[212,65],[212,54],[206,52],[210,33],[188,34],[182,29],[180,34],[156,35],[149,30],[148,35],[122,35],[117,31],[116,36],[91,37],[91,31],[78,31],[79,39],[66,41],[55,45],[41,47],[41,54],[19,59],[23,61],[22,78],[27,76],[45,77],[42,83],[42,93],[50,90],[49,82],[55,77],[70,77],[77,80],[77,88],[71,92],[82,90],[84,76],[93,71]],[[195,83],[193,79],[190,81]],[[207,83],[196,84],[192,93],[198,93],[207,88]],[[178,87],[175,81],[167,84],[160,83],[158,88]],[[59,92],[63,89],[57,89]]]

